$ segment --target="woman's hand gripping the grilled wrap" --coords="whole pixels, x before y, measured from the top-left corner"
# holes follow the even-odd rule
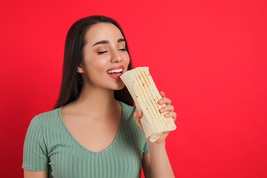
[[[168,119],[173,118],[173,120],[176,120],[177,114],[176,112],[174,112],[174,107],[173,105],[171,105],[171,101],[170,99],[166,98],[165,93],[164,92],[160,92],[160,95],[162,96],[162,99],[160,99],[159,101],[157,101],[158,104],[160,105],[164,105],[164,107],[162,107],[160,109],[160,113],[165,113],[164,116]],[[140,118],[142,116],[142,110],[138,110],[137,112],[134,113],[134,118],[136,118],[136,123],[138,124],[138,126],[140,127],[140,129],[144,132],[144,129],[140,123]],[[160,136],[160,138],[158,138],[155,143],[162,143],[165,142],[166,137],[168,136],[168,133],[170,131],[166,131],[162,134],[162,136]]]

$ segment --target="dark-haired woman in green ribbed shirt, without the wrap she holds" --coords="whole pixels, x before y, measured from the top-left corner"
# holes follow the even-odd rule
[[[131,69],[127,41],[112,18],[77,21],[66,37],[55,110],[31,120],[23,152],[24,177],[174,177],[164,133],[146,140],[120,75]],[[176,118],[160,92],[160,112]],[[167,117],[167,116],[166,116]]]

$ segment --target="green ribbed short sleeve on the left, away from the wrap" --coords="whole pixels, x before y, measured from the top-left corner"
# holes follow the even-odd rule
[[[27,170],[47,170],[47,147],[44,144],[40,119],[35,116],[27,129],[23,148],[23,168]]]

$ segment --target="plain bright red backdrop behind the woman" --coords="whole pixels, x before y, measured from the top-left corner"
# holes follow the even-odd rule
[[[66,32],[93,14],[123,27],[134,66],[172,99],[176,177],[267,177],[267,1],[1,1],[1,177],[23,177],[31,118],[58,96]]]

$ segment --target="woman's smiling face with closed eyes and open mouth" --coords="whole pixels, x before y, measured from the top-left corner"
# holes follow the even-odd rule
[[[84,83],[92,87],[120,90],[120,75],[127,71],[129,54],[120,30],[112,23],[92,25],[84,37],[84,60],[78,67]]]

